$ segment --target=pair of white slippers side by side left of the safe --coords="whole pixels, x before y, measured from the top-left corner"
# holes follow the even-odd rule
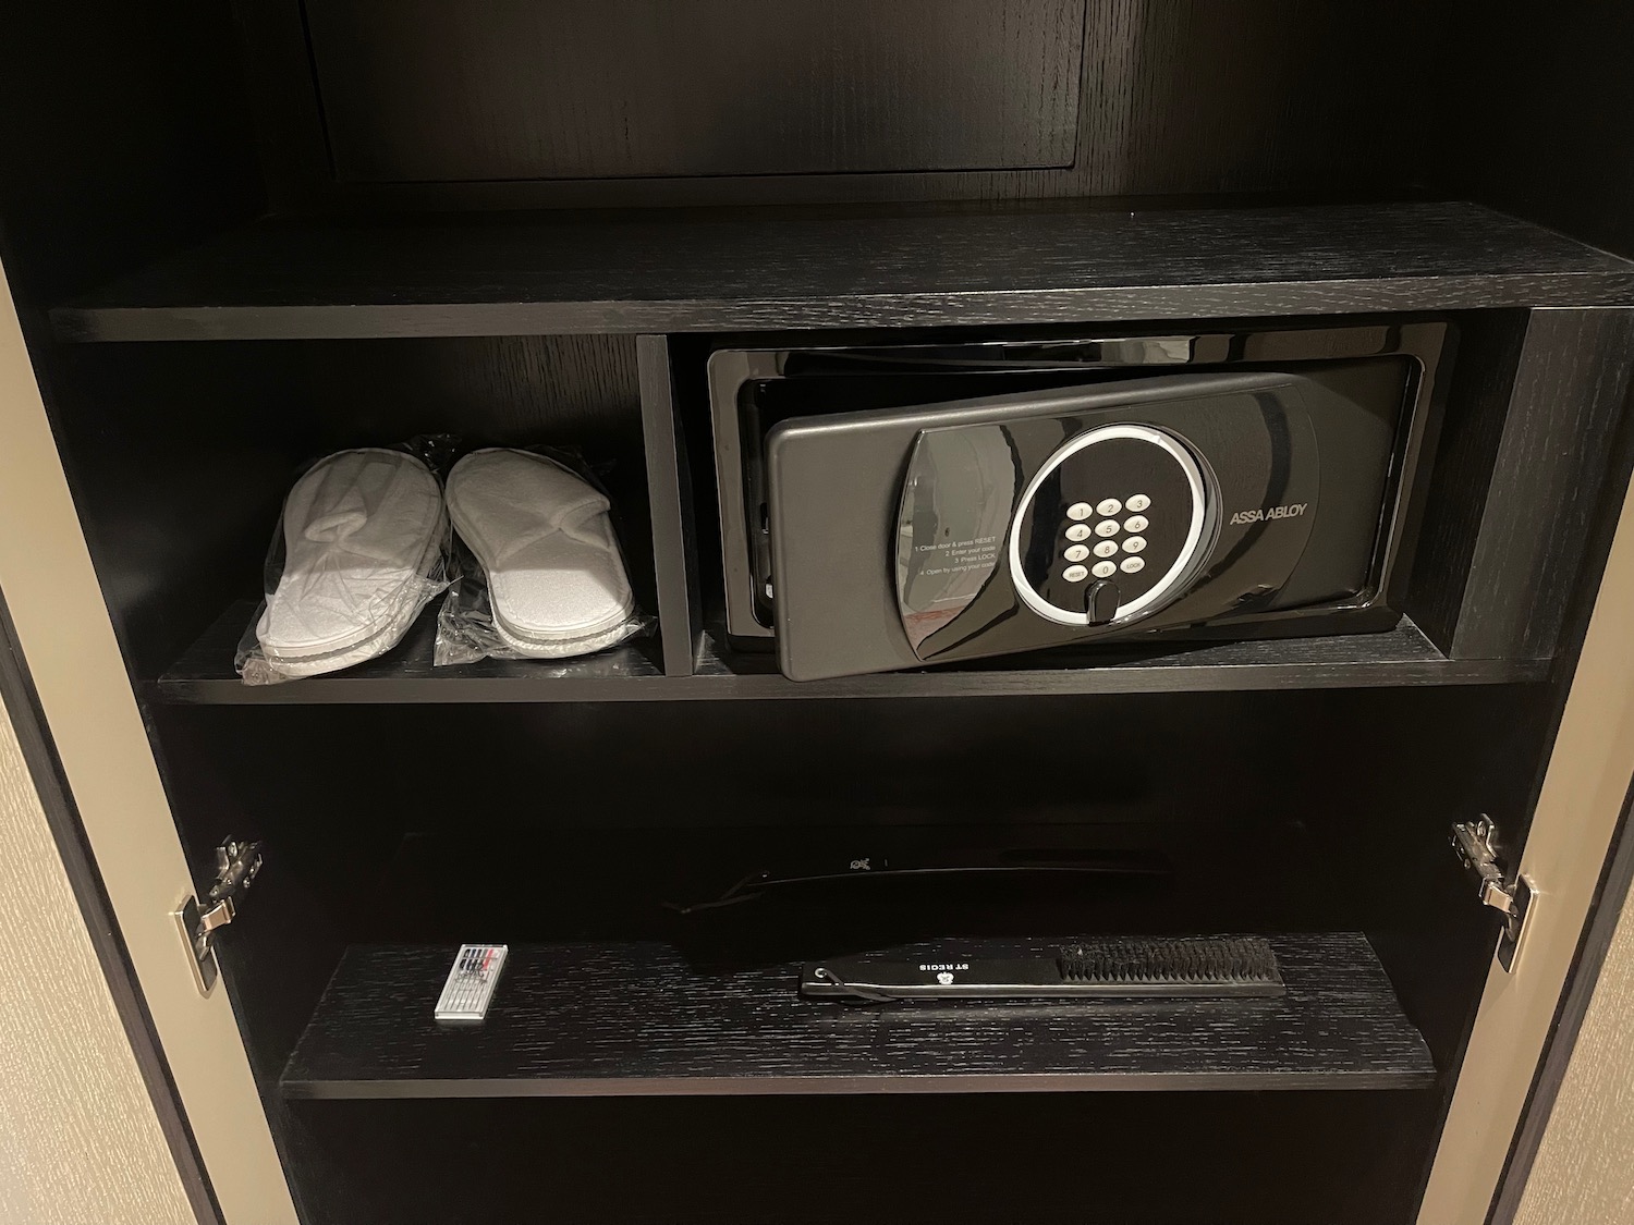
[[[518,655],[583,655],[629,634],[634,596],[606,497],[544,456],[489,448],[448,490],[402,451],[319,461],[284,501],[284,570],[255,626],[268,666],[315,676],[391,650],[448,586],[453,519]]]

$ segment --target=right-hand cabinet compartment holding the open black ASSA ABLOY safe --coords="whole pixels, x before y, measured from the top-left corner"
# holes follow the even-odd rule
[[[1459,312],[678,346],[696,363],[678,374],[694,474],[716,495],[698,508],[709,541],[698,671],[765,673],[775,665],[755,652],[775,645],[776,666],[814,696],[884,684],[846,673],[926,665],[938,666],[900,678],[904,691],[958,688],[956,678],[977,689],[997,675],[1046,691],[1072,688],[1065,678],[1085,670],[1096,679],[1083,688],[1258,688],[1278,666],[1304,684],[1417,683],[1400,666],[1409,657],[1446,681],[1498,679],[1500,660],[1523,675],[1556,648],[1560,578],[1582,555],[1570,511],[1546,490],[1598,487],[1616,408],[1590,392],[1587,415],[1567,418],[1536,399],[1557,341],[1619,343],[1605,332],[1616,320],[1585,312],[1574,323],[1554,336],[1525,314]],[[1266,407],[1278,395],[1299,412]],[[1098,624],[1023,591],[1033,580],[1018,568],[1021,516],[1034,488],[1056,490],[1051,598],[1082,596],[1101,559],[1090,549],[1136,532],[1121,503],[1095,523],[1100,492],[1069,508],[1075,497],[1056,487],[1077,459],[1057,467],[1054,456],[1119,430],[1199,456],[1203,495],[1219,510],[1193,498],[1194,536],[1212,552],[1170,585],[1168,604],[1134,611],[1136,601],[1127,617],[1118,608]],[[1252,487],[1221,483],[1234,472],[1253,475]],[[1103,568],[1173,560],[1152,534],[1162,524],[1147,521],[1159,508],[1141,501],[1141,539],[1129,544],[1145,555],[1119,550]],[[933,565],[941,578],[922,573]],[[1521,570],[1525,586],[1513,581]],[[1039,608],[1023,606],[1025,595]]]

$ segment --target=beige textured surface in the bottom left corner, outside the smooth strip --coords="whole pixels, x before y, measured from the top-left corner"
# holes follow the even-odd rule
[[[3,709],[0,982],[0,1222],[196,1222]]]

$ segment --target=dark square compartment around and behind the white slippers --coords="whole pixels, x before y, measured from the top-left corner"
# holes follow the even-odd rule
[[[631,338],[75,346],[62,364],[65,433],[85,475],[82,513],[139,678],[203,650],[214,678],[250,689],[234,671],[234,648],[253,619],[266,549],[302,466],[417,436],[578,449],[613,497],[636,601],[657,614]],[[507,671],[500,662],[433,671],[440,603],[402,645],[340,675]],[[588,676],[657,675],[657,634],[582,660],[508,663],[511,673],[569,679],[578,666]],[[310,683],[320,681],[266,691]]]

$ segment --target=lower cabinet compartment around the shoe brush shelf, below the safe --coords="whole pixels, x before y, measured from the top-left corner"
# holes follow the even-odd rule
[[[309,1194],[359,1197],[361,1220],[461,1218],[433,1137],[492,1156],[508,1129],[616,1127],[659,1160],[691,1119],[721,1156],[691,1166],[676,1204],[750,1220],[716,1179],[735,1178],[727,1153],[765,1148],[773,1119],[855,1140],[882,1117],[975,1135],[1023,1098],[1085,1134],[1190,1134],[1208,1117],[1239,1174],[1358,1119],[1423,1143],[1492,938],[1443,815],[1471,795],[1521,804],[1538,694],[405,702],[361,720],[193,704],[157,707],[157,730],[190,841],[235,830],[271,848],[227,982]],[[1320,740],[1302,735],[1314,725]],[[1002,871],[887,879],[858,874],[863,859]],[[1232,931],[1270,934],[1286,998],[873,1008],[797,993],[804,959],[897,944]],[[431,1006],[461,941],[508,942],[511,962],[487,1021],[441,1027]],[[905,1101],[923,1094],[936,1104]],[[1008,1143],[980,1148],[1008,1169]],[[384,1176],[386,1152],[422,1147],[412,1176]],[[765,1158],[815,1176],[850,1150]],[[1371,1160],[1374,1207],[1413,1194],[1410,1163]],[[598,1168],[593,1147],[577,1161]],[[484,1210],[529,1202],[498,1165]],[[552,1184],[588,1194],[578,1173]],[[420,1204],[382,1207],[410,1186]],[[1230,1186],[1226,1218],[1265,1220],[1247,1183]],[[1324,1178],[1301,1194],[1330,1192]],[[649,1218],[621,1196],[601,1200],[606,1218]],[[1052,1189],[1028,1202],[1065,1210]],[[1131,1217],[1105,1212],[1090,1218]]]

